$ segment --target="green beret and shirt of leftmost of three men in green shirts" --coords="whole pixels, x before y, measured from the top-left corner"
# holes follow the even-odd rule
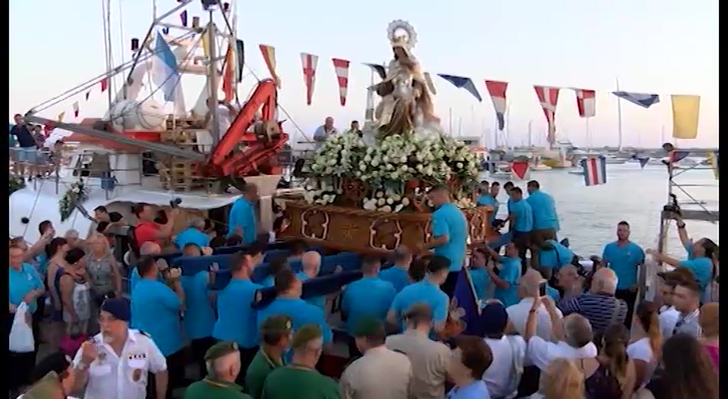
[[[214,344],[205,352],[205,362],[238,352],[235,342],[223,341]],[[242,393],[242,387],[234,382],[222,381],[208,375],[202,381],[191,384],[184,392],[184,399],[252,399]]]

